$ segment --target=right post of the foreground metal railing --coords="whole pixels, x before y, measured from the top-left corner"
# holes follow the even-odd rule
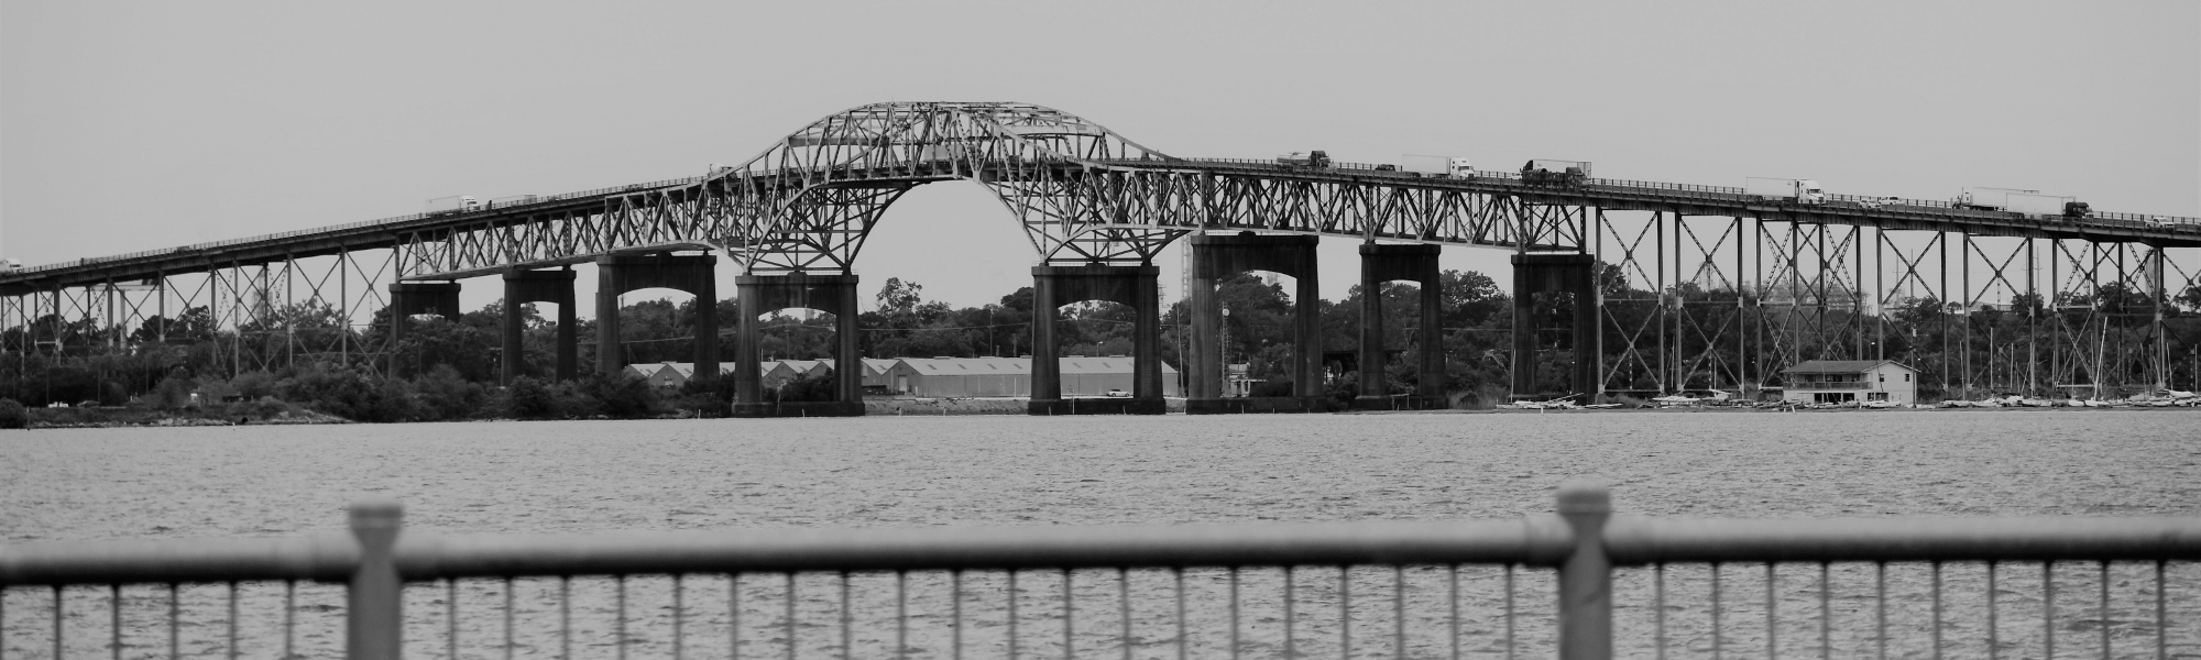
[[[1558,486],[1558,517],[1574,530],[1574,552],[1558,568],[1558,660],[1613,658],[1613,561],[1605,557],[1605,521],[1613,495],[1602,482]]]

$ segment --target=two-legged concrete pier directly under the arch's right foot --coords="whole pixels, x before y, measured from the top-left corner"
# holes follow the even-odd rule
[[[1162,400],[1162,295],[1158,266],[1032,266],[1032,400],[1028,411],[1050,414],[1164,414]],[[1127,304],[1131,326],[1131,400],[1063,403],[1056,308],[1103,299]],[[1208,297],[1213,301],[1213,295]]]

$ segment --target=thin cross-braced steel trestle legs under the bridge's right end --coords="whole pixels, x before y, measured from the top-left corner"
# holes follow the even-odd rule
[[[1600,392],[1778,387],[1816,359],[1897,361],[1961,398],[2201,381],[2164,323],[2201,249],[1666,211],[1594,227]]]

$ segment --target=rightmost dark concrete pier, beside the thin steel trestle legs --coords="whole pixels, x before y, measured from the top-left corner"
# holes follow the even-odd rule
[[[1536,392],[1536,323],[1534,295],[1563,290],[1574,295],[1574,367],[1569,370],[1569,392],[1596,394],[1598,383],[1598,297],[1596,264],[1591,255],[1512,255],[1514,264],[1514,354],[1512,396],[1534,398]]]

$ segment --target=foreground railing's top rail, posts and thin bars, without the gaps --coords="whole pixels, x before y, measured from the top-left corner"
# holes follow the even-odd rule
[[[1935,565],[1932,607],[1939,612],[1941,563],[1983,561],[2087,561],[2100,563],[2104,612],[2109,598],[2106,565],[2111,561],[2155,563],[2155,636],[2157,649],[2170,649],[2164,634],[2175,620],[2164,612],[2201,612],[2201,603],[2166,601],[2164,565],[2179,561],[2201,561],[2201,517],[2029,517],[2029,519],[1653,519],[1611,515],[1609,495],[1602,486],[1569,484],[1558,493],[1556,515],[1527,515],[1497,521],[1334,521],[1334,524],[1202,524],[1202,526],[1032,526],[1032,528],[814,528],[814,530],[682,530],[682,532],[629,532],[629,535],[440,535],[407,532],[401,526],[401,510],[394,502],[363,502],[352,508],[352,532],[324,532],[293,539],[213,539],[213,541],[46,541],[0,546],[0,603],[7,603],[7,587],[51,587],[53,590],[53,649],[64,653],[66,607],[64,587],[101,585],[114,594],[112,629],[119,649],[123,636],[123,605],[119,585],[169,585],[169,645],[176,645],[176,587],[178,583],[229,583],[229,647],[238,647],[238,583],[321,581],[346,585],[346,645],[350,658],[398,658],[405,629],[405,583],[442,583],[442,601],[449,631],[445,636],[449,656],[458,656],[460,640],[460,581],[502,579],[504,640],[506,653],[513,649],[513,590],[515,579],[559,579],[559,603],[572,596],[566,592],[574,576],[610,576],[618,581],[616,625],[627,625],[627,576],[669,574],[674,598],[671,645],[680,649],[682,631],[682,587],[680,576],[731,576],[733,605],[742,605],[742,576],[784,574],[786,576],[786,653],[797,658],[797,603],[795,574],[839,574],[839,612],[828,614],[841,620],[841,647],[850,645],[852,605],[850,574],[894,574],[898,636],[907,634],[911,618],[902,576],[911,572],[951,572],[957,576],[955,603],[962,603],[964,572],[1006,572],[1008,576],[1008,620],[1010,658],[1015,658],[1015,623],[1019,572],[1059,572],[1065,623],[1063,649],[1076,642],[1067,636],[1070,609],[1078,601],[1072,572],[1112,570],[1120,594],[1123,634],[1118,642],[1129,653],[1134,645],[1134,598],[1125,570],[1169,570],[1178,579],[1178,638],[1184,645],[1184,570],[1224,568],[1230,585],[1230,629],[1237,649],[1239,631],[1239,570],[1281,568],[1283,618],[1292,620],[1292,605],[1310,596],[1292,596],[1292,587],[1305,583],[1294,579],[1294,570],[1329,570],[1336,579],[1316,598],[1334,603],[1334,627],[1340,649],[1351,653],[1354,607],[1351,592],[1365,590],[1369,574],[1354,579],[1349,568],[1389,565],[1389,585],[1371,583],[1389,596],[1395,612],[1391,616],[1393,653],[1404,653],[1413,640],[1406,627],[1415,620],[1409,601],[1422,603],[1428,596],[1411,596],[1406,568],[1450,568],[1450,640],[1453,658],[1459,658],[1459,568],[1494,565],[1503,568],[1505,587],[1505,649],[1514,645],[1514,565],[1550,568],[1556,576],[1556,605],[1552,609],[1554,649],[1567,660],[1613,658],[1613,574],[1616,565],[1655,565],[1660,579],[1673,563],[1712,565],[1712,616],[1719,616],[1719,565],[1765,563],[1765,576],[1776,576],[1776,563],[1820,565],[1820,627],[1831,627],[1833,609],[1827,609],[1825,565],[1829,563],[1877,563],[1930,561]],[[1884,570],[1884,568],[1882,568]],[[1442,572],[1439,572],[1442,574]],[[1417,581],[1422,576],[1417,574]],[[1105,579],[1103,579],[1105,583]],[[1277,579],[1270,576],[1268,585]],[[2172,590],[2190,592],[2190,583],[2172,583]],[[497,590],[495,583],[491,590]],[[1312,585],[1305,590],[1314,590]],[[1422,590],[1422,587],[1415,587]],[[1444,587],[1415,594],[1442,594]],[[1882,612],[1888,596],[1882,585]],[[2054,585],[2045,585],[2054,590]],[[1664,583],[1657,587],[1664,603]],[[1767,631],[1778,629],[1772,614],[1772,583],[1767,583]],[[2054,596],[2054,592],[2049,594]],[[286,596],[291,598],[291,596]],[[1446,596],[1437,596],[1446,598]],[[2175,603],[2164,605],[2164,603]],[[1902,603],[1899,603],[1902,605]],[[286,605],[288,607],[288,605]],[[469,605],[471,607],[471,605]],[[559,605],[566,612],[570,605]],[[808,605],[806,605],[808,607]],[[957,605],[960,607],[960,605]],[[1664,612],[1660,605],[1657,612]],[[1908,605],[1902,605],[1908,607]],[[1992,594],[1990,594],[1992,607]],[[0,653],[22,614],[0,607]],[[960,612],[960,609],[957,609]],[[1633,612],[1633,609],[1631,609]],[[286,614],[291,616],[291,614]],[[559,614],[568,616],[568,614]],[[288,620],[288,618],[286,618]],[[563,618],[561,618],[563,620]],[[951,618],[951,629],[962,636],[964,614]],[[570,623],[561,638],[570,638]],[[1417,623],[1420,625],[1420,623]],[[729,623],[733,645],[742,642],[742,618],[735,612]],[[1684,625],[1677,623],[1677,631]],[[1886,640],[1886,623],[1880,625],[1880,640]],[[1712,631],[1719,631],[1715,618]],[[1939,636],[1941,623],[1935,623]],[[1657,649],[1666,649],[1668,625],[1657,620]],[[18,634],[20,636],[20,634]],[[618,634],[625,645],[625,634]],[[1294,634],[1283,629],[1285,649]],[[570,642],[570,640],[568,640]],[[753,640],[757,642],[757,640]],[[1992,638],[1990,638],[1992,642]],[[566,642],[561,642],[566,645]],[[777,642],[775,642],[777,645]],[[1424,642],[1426,645],[1426,642]],[[1715,638],[1715,647],[1719,647]],[[1772,645],[1767,640],[1767,645]],[[1831,642],[1825,642],[1831,645]],[[291,647],[288,629],[284,647]],[[960,647],[957,647],[960,649]],[[1825,647],[1831,651],[1831,647]],[[2109,656],[2104,634],[2104,656]]]

